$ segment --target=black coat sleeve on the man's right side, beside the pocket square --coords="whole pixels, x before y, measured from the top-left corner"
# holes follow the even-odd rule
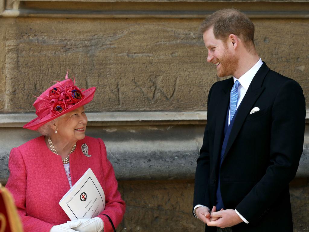
[[[303,152],[305,98],[294,80],[282,84],[272,108],[270,163],[265,175],[237,205],[250,223],[257,223],[295,177]],[[263,154],[267,155],[267,154]]]

